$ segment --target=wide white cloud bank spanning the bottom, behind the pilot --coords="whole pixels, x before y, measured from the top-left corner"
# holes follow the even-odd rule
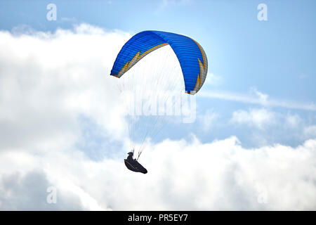
[[[11,182],[0,181],[1,193],[14,194],[1,194],[0,205],[49,210],[46,186],[53,185],[55,209],[62,210],[315,210],[315,153],[316,140],[297,148],[256,149],[242,148],[235,137],[204,144],[166,140],[143,154],[145,175],[129,172],[121,159],[92,162],[76,151],[32,155],[24,167],[11,167]],[[16,160],[1,153],[1,171],[4,161],[14,165]],[[36,165],[41,176],[32,175]],[[20,183],[12,180],[20,172],[25,175],[17,189]],[[32,189],[39,182],[43,185]],[[32,196],[32,203],[24,202]]]

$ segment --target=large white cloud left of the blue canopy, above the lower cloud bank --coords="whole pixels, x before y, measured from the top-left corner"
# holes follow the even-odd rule
[[[65,147],[78,138],[79,115],[92,117],[112,139],[126,132],[109,75],[130,34],[84,24],[0,37],[0,149]]]

